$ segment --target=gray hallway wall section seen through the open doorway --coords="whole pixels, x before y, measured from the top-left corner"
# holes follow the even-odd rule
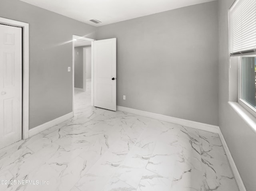
[[[77,54],[78,53],[78,54]],[[83,48],[74,49],[74,87],[83,88]]]

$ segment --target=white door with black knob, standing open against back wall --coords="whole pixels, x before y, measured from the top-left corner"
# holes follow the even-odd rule
[[[94,106],[116,111],[116,38],[94,43]]]

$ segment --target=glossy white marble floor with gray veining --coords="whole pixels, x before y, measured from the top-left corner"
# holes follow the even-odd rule
[[[0,150],[0,180],[1,191],[238,191],[218,134],[92,107],[90,91],[75,93],[73,118]]]

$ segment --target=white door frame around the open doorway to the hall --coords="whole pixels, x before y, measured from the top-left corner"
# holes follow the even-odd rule
[[[75,65],[75,57],[74,57],[74,48],[75,48],[75,41],[74,39],[83,39],[83,40],[87,40],[87,41],[91,41],[92,43],[92,82],[91,82],[91,105],[94,106],[94,86],[93,86],[93,72],[94,72],[94,68],[93,68],[93,41],[95,41],[95,39],[92,38],[86,38],[86,37],[82,37],[82,36],[78,36],[78,35],[73,35],[72,36],[72,91],[73,91],[73,102],[72,102],[72,112],[73,112],[73,116],[74,116],[74,100],[75,100],[75,92],[74,92],[74,83],[75,83],[75,77],[74,77],[74,65]],[[84,75],[83,75],[84,76]],[[83,79],[84,80],[84,79]],[[85,86],[86,88],[86,86]],[[83,85],[83,89],[84,89],[84,85]]]

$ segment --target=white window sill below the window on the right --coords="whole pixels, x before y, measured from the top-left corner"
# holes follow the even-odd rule
[[[254,133],[256,133],[256,118],[250,114],[243,106],[238,102],[229,101],[228,104],[238,113],[238,115],[248,124]]]

